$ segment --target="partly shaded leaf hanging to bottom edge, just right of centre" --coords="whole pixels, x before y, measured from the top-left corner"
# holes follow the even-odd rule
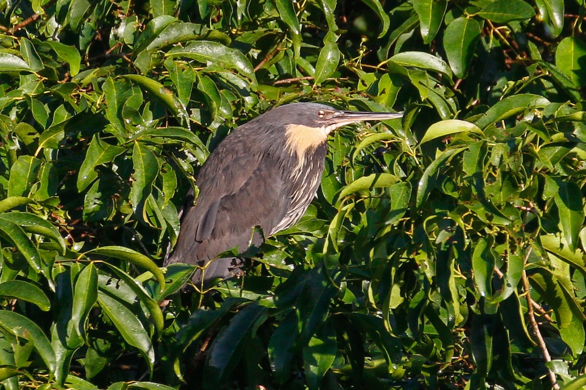
[[[337,352],[336,332],[331,323],[326,322],[303,348],[305,378],[310,389],[321,388],[321,379],[332,367]]]

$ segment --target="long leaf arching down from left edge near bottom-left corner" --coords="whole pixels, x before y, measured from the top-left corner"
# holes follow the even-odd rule
[[[10,310],[0,310],[0,326],[15,336],[31,341],[49,372],[55,371],[56,360],[53,348],[45,333],[36,323]]]

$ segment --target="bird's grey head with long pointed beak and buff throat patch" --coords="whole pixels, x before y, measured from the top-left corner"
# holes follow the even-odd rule
[[[284,130],[291,153],[297,153],[299,158],[303,158],[306,151],[325,144],[328,134],[338,127],[401,116],[403,114],[391,112],[342,111],[319,103],[290,103],[274,108],[261,117],[270,122],[271,126]]]

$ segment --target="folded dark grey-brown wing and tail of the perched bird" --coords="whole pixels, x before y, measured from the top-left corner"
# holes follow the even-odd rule
[[[210,160],[202,168],[196,205],[184,210],[179,238],[168,263],[189,263],[205,267],[203,280],[231,277],[241,262],[215,257],[223,251],[248,248],[253,229],[268,234],[283,218],[290,196],[285,194],[281,164],[270,157],[239,156],[227,161]],[[261,243],[254,237],[253,243]],[[201,275],[194,276],[199,282]]]

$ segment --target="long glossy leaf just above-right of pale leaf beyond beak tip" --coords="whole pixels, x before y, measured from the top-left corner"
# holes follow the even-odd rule
[[[476,126],[485,129],[485,127],[493,125],[500,120],[536,108],[543,108],[549,103],[546,98],[540,95],[519,94],[508,96],[490,107],[485,115],[476,121]]]

